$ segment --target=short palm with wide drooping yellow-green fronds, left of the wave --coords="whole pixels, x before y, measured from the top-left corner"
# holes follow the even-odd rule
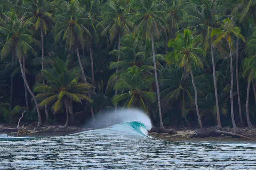
[[[40,106],[52,105],[54,112],[59,111],[64,106],[66,108],[66,124],[61,128],[67,128],[69,114],[73,113],[72,102],[81,102],[82,100],[92,100],[88,97],[90,93],[87,91],[91,87],[87,83],[79,83],[79,70],[68,70],[69,61],[64,62],[61,59],[56,59],[52,63],[51,69],[42,70],[42,74],[47,81],[46,84],[36,83],[33,87],[34,92],[38,92],[36,98],[42,100]],[[43,93],[45,92],[45,93]]]

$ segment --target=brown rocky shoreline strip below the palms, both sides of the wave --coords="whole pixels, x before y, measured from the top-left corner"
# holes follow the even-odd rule
[[[206,130],[213,130],[216,127],[206,127]],[[28,133],[20,137],[46,137],[46,136],[64,136],[73,133],[78,133],[82,131],[95,130],[99,128],[82,128],[78,126],[68,126],[66,129],[60,128],[59,125],[45,125],[42,127],[37,127],[36,125],[28,125],[26,126],[26,130]],[[217,137],[194,137],[198,131],[198,127],[180,127],[173,128],[167,127],[167,130],[175,131],[177,134],[171,133],[157,133],[157,132],[148,132],[148,135],[164,141],[177,142],[177,141],[251,141],[241,137],[234,137],[230,135],[224,135]],[[223,130],[232,131],[230,127],[223,127]],[[249,136],[252,139],[256,140],[256,130],[250,130],[248,128],[239,128],[243,135]],[[8,126],[5,124],[0,124],[0,134],[6,134],[7,136],[17,137],[18,130],[15,127]],[[192,137],[193,136],[193,137]]]

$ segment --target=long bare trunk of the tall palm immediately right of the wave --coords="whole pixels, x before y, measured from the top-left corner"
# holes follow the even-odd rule
[[[150,32],[151,35],[151,42],[152,42],[152,52],[153,52],[153,62],[154,62],[154,72],[156,78],[156,90],[157,90],[157,101],[158,101],[158,109],[159,109],[159,118],[160,118],[160,129],[164,129],[162,112],[161,112],[161,104],[160,104],[160,91],[159,91],[159,83],[157,78],[157,71],[156,71],[156,57],[155,57],[155,45],[154,45],[154,36],[153,33]]]

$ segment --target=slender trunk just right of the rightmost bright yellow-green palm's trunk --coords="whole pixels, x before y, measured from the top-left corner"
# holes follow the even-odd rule
[[[236,86],[237,86],[237,98],[238,98],[238,108],[239,108],[239,119],[241,127],[245,127],[243,118],[242,118],[242,109],[240,101],[240,91],[239,91],[239,80],[238,80],[238,38],[236,39]]]

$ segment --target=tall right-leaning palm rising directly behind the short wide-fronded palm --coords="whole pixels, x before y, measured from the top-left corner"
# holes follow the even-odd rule
[[[71,0],[70,2],[62,3],[62,8],[57,11],[56,24],[55,24],[55,41],[59,41],[62,37],[62,41],[66,41],[66,50],[74,51],[77,54],[78,63],[82,72],[82,78],[84,83],[87,83],[83,65],[80,60],[79,49],[83,44],[84,34],[90,36],[90,32],[84,26],[87,17],[84,17],[84,8],[80,7],[77,0]],[[89,90],[89,89],[88,89]],[[89,93],[91,99],[91,94]],[[92,119],[94,118],[94,110],[91,106]]]

